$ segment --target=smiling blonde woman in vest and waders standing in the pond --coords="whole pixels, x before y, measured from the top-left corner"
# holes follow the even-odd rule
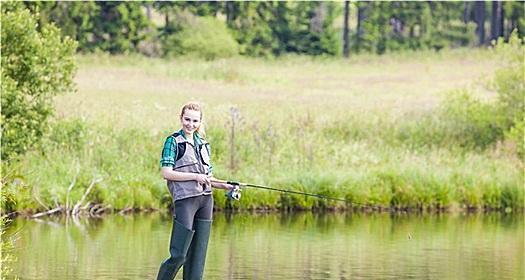
[[[164,142],[162,176],[175,204],[170,257],[160,266],[157,279],[173,279],[184,265],[184,279],[202,279],[213,212],[212,187],[232,186],[213,178],[210,146],[204,140],[202,111],[188,103],[180,114],[182,128]]]

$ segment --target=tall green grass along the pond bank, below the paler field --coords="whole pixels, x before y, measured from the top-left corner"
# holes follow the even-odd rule
[[[291,126],[294,125],[302,127],[299,123]],[[524,206],[523,163],[511,152],[499,148],[469,150],[460,142],[419,145],[415,140],[403,141],[396,135],[407,124],[391,123],[387,117],[346,125],[334,123],[330,127],[314,122],[312,129],[302,130],[244,124],[233,139],[233,166],[232,139],[227,130],[209,129],[216,177],[349,201],[246,188],[242,199],[233,202],[217,190],[216,208]],[[416,126],[410,135],[416,137],[420,130],[427,129],[426,125]],[[55,135],[44,142],[43,152],[30,153],[9,167],[18,174],[8,184],[16,188],[16,209],[43,210],[44,205],[65,204],[67,189],[75,176],[76,183],[69,194],[73,202],[80,199],[93,178],[102,177],[103,181],[88,197],[93,204],[114,209],[169,207],[171,200],[158,166],[163,139],[169,131],[119,130],[80,120],[58,122],[53,130],[60,137]]]

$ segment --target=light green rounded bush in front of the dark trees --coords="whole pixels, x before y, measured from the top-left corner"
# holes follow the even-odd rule
[[[178,21],[180,31],[166,36],[163,41],[165,55],[190,55],[212,60],[239,53],[239,46],[226,25],[216,18],[180,13]]]

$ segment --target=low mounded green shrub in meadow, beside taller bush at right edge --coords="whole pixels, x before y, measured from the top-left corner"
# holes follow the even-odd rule
[[[493,103],[481,101],[467,90],[456,90],[437,109],[395,125],[387,139],[410,149],[484,149],[503,139],[499,113]]]

